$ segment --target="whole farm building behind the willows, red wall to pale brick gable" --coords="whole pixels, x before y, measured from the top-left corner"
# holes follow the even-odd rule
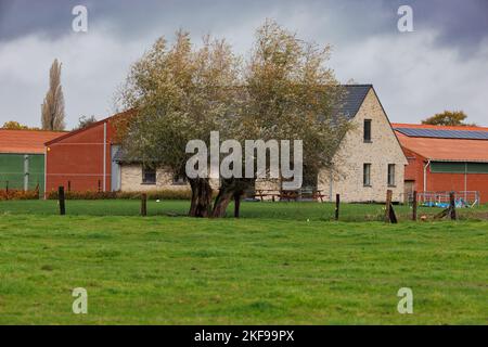
[[[338,193],[345,202],[384,201],[390,189],[394,200],[400,202],[407,159],[387,115],[371,85],[345,88],[347,94],[339,113],[354,124],[354,129],[335,156],[334,172],[321,171],[311,185],[325,198]],[[118,114],[47,142],[47,191],[59,185],[70,191],[102,192],[188,188],[181,177],[174,177],[163,167],[153,169],[125,160],[115,139],[114,120],[129,115]],[[260,181],[256,189],[278,195],[280,183]]]

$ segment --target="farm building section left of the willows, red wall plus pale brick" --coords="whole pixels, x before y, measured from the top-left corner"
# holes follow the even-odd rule
[[[116,114],[46,143],[47,192],[63,185],[67,191],[143,192],[165,188],[187,188],[184,181],[163,168],[144,168],[124,160],[116,140]]]

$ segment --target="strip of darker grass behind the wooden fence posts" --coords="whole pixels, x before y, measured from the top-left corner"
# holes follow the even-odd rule
[[[89,200],[66,201],[66,213],[70,216],[138,216],[140,211],[138,200]],[[147,202],[150,216],[185,216],[190,207],[187,201]],[[241,207],[242,218],[273,218],[293,220],[332,220],[335,205],[330,203],[253,203],[245,202]],[[395,206],[400,220],[411,218],[409,206]],[[420,208],[419,216],[432,217],[440,208]],[[57,215],[57,201],[0,201],[0,214]],[[478,208],[458,209],[461,219],[488,219],[488,205]],[[233,216],[233,206],[228,210]],[[383,220],[384,206],[377,204],[342,204],[342,221],[378,221]]]

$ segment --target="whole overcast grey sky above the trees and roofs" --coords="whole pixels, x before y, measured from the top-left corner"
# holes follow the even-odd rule
[[[72,29],[77,4],[88,8],[88,33]],[[397,28],[402,4],[413,9],[413,33]],[[331,43],[338,80],[373,83],[391,121],[463,110],[488,126],[487,16],[486,0],[0,0],[0,126],[40,125],[55,57],[72,128],[82,115],[111,115],[117,86],[157,37],[184,28],[246,54],[267,17]]]

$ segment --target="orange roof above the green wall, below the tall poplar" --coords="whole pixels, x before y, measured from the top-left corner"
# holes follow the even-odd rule
[[[65,133],[66,131],[0,129],[0,153],[42,154],[44,142]]]

